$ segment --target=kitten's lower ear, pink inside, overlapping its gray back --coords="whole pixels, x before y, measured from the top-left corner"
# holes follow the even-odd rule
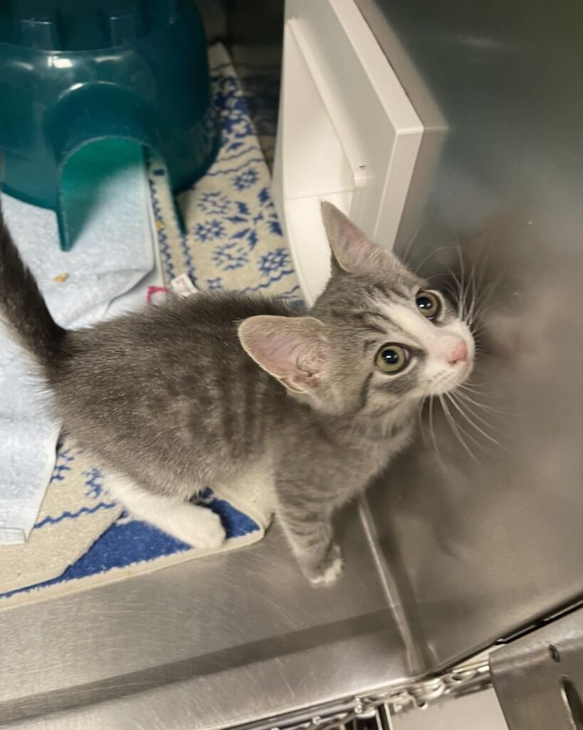
[[[238,336],[246,353],[290,391],[309,393],[326,376],[328,345],[320,320],[260,315],[243,320]]]

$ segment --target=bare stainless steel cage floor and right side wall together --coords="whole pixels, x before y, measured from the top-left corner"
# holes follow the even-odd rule
[[[330,590],[305,583],[275,528],[247,550],[1,612],[0,726],[257,721],[437,672],[582,593],[583,6],[358,4],[418,111],[449,127],[398,248],[429,255],[431,273],[458,269],[460,245],[482,291],[493,284],[474,394],[488,425],[458,415],[475,458],[437,419],[439,453],[419,441],[364,522],[345,514]]]

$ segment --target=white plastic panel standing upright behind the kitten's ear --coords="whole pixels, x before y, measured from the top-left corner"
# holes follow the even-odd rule
[[[353,0],[287,0],[273,185],[308,303],[329,276],[320,202],[391,248],[422,134]]]

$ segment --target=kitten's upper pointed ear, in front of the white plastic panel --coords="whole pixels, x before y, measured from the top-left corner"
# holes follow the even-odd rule
[[[332,273],[378,274],[403,268],[396,255],[370,242],[335,205],[324,202],[321,212],[332,249]]]

